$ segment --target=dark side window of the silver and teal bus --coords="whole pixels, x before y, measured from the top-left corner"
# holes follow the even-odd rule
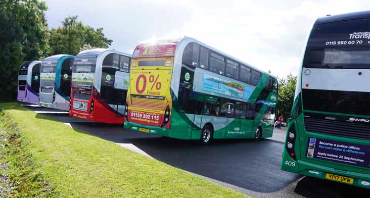
[[[69,96],[71,94],[71,80],[72,80],[72,58],[66,59],[62,63],[60,88],[62,92]]]

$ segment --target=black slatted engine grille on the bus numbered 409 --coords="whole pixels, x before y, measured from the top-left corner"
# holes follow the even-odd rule
[[[331,117],[332,118],[332,117]],[[306,131],[370,140],[370,125],[349,121],[304,118]]]

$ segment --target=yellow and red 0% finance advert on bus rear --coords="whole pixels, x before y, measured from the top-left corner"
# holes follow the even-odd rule
[[[163,126],[169,123],[169,114],[165,115],[172,107],[170,83],[172,77],[173,58],[149,58],[146,63],[164,61],[167,64],[158,66],[143,65],[132,67],[142,59],[133,60],[131,63],[130,100],[128,101],[128,120],[145,125]],[[167,119],[167,121],[165,120]],[[169,127],[169,126],[166,126]]]

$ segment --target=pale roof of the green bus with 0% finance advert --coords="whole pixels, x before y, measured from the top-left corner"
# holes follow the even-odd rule
[[[230,56],[230,55],[228,55],[228,54],[226,54],[226,53],[224,53],[224,52],[222,52],[220,50],[217,50],[216,48],[214,48],[214,47],[212,47],[212,46],[210,46],[210,45],[208,45],[206,43],[203,43],[203,42],[201,42],[201,41],[199,41],[199,40],[197,40],[197,39],[195,39],[193,37],[182,36],[182,37],[174,37],[174,38],[158,38],[156,40],[150,39],[150,40],[144,40],[144,41],[140,42],[137,45],[149,44],[149,43],[153,43],[153,42],[154,43],[156,43],[156,42],[176,42],[178,45],[180,45],[181,43],[184,44],[184,45],[187,45],[190,42],[196,42],[196,43],[198,43],[198,44],[200,44],[200,45],[202,45],[204,47],[209,48],[211,51],[214,51],[214,52],[216,52],[218,54],[221,54],[221,55],[223,55],[223,56],[225,56],[225,57],[227,57],[229,59],[233,59],[234,61],[237,61],[237,62],[241,63],[242,65],[246,65],[246,66],[248,66],[250,68],[253,68],[254,70],[257,70],[259,72],[265,73],[265,74],[267,74],[267,75],[269,75],[269,76],[271,76],[273,78],[276,78],[275,76],[269,74],[268,72],[265,72],[265,71],[263,71],[261,69],[258,69],[256,67],[254,67],[254,66],[252,66],[252,65],[244,62],[244,61],[241,61],[241,60],[239,60],[239,59],[237,59],[237,58],[235,58],[233,56]],[[181,52],[181,53],[183,53],[183,52]]]

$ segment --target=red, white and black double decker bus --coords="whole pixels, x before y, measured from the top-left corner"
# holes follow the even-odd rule
[[[72,70],[69,115],[123,124],[131,55],[108,49],[80,52]]]

